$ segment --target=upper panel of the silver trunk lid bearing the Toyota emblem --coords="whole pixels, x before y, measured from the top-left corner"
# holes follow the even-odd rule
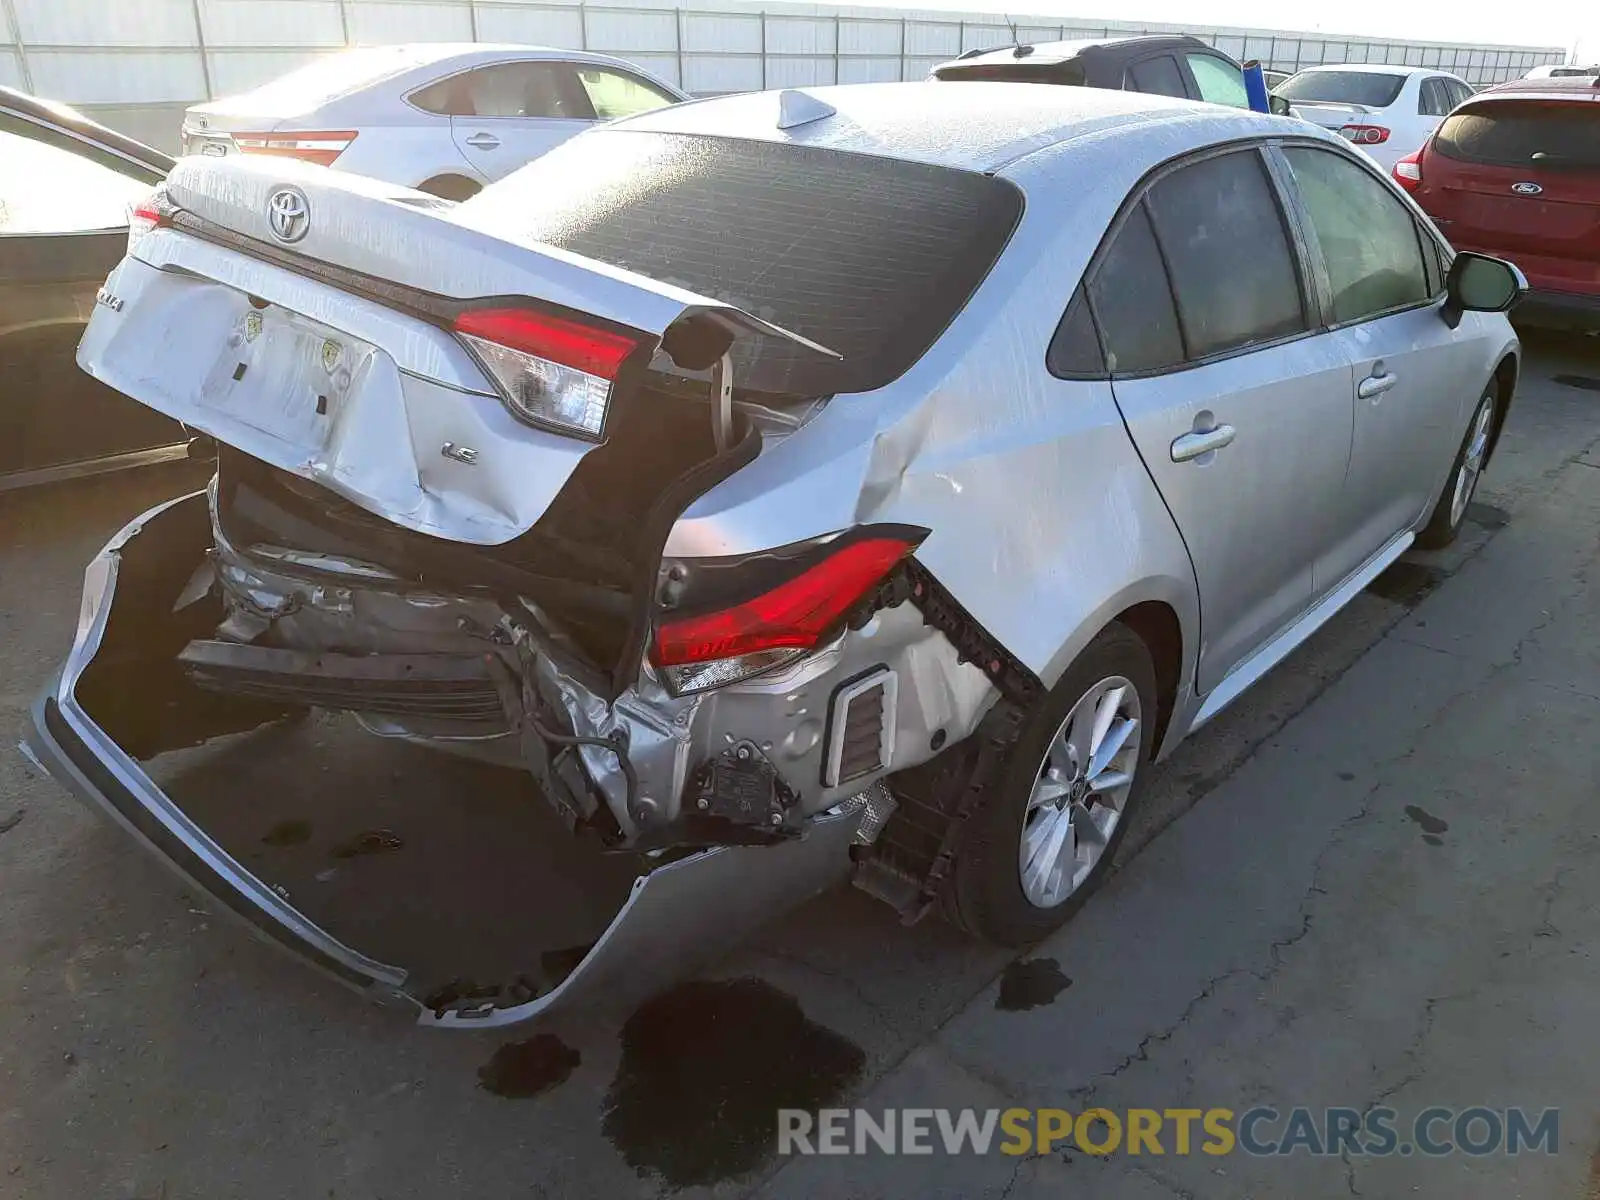
[[[293,248],[274,240],[267,226],[269,200],[283,189],[298,190],[309,210],[309,227]],[[472,205],[419,203],[432,197],[365,176],[290,158],[184,158],[163,190],[170,203],[203,226],[245,238],[254,243],[253,253],[266,251],[262,256],[302,274],[323,275],[318,267],[326,264],[341,274],[366,277],[379,291],[402,288],[445,306],[512,298],[554,304],[653,334],[686,370],[714,365],[739,333],[840,357],[734,304],[520,237],[515,229],[502,227],[498,214],[482,214]],[[478,235],[448,237],[450,262],[418,253],[430,235],[448,232],[442,224]],[[338,283],[349,286],[349,282]]]

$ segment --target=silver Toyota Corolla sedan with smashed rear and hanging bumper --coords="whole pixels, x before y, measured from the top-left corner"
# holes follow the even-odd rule
[[[1150,763],[1456,536],[1520,362],[1515,269],[1336,136],[1133,93],[731,96],[459,206],[189,160],[141,211],[78,360],[216,478],[90,565],[29,749],[429,1024],[624,994],[846,875],[1043,936]],[[526,928],[499,976],[363,949],[158,782],[307,710],[518,771],[626,867],[600,926],[462,878],[363,899]]]

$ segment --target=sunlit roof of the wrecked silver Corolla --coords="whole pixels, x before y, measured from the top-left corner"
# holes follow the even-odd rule
[[[1197,144],[1208,141],[1202,128],[1232,138],[1294,131],[1282,117],[1104,88],[973,82],[958,88],[846,83],[803,91],[835,109],[834,115],[779,130],[781,93],[755,91],[656,109],[608,128],[790,141],[971,171],[995,171],[1046,146],[1109,130],[1189,125]]]

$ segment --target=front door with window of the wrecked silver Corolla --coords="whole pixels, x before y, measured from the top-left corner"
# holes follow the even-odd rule
[[[1432,501],[1483,379],[1440,315],[1443,282],[1430,235],[1365,163],[1322,146],[1285,146],[1333,338],[1354,368],[1354,438],[1344,534],[1318,563],[1336,586]]]

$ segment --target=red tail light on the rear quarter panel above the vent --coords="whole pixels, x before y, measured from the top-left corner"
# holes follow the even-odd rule
[[[779,560],[776,568],[768,560],[763,586],[754,595],[725,600],[693,616],[659,619],[650,656],[677,694],[734,683],[802,659],[824,645],[926,534],[910,526],[866,526],[805,547],[805,554]]]

